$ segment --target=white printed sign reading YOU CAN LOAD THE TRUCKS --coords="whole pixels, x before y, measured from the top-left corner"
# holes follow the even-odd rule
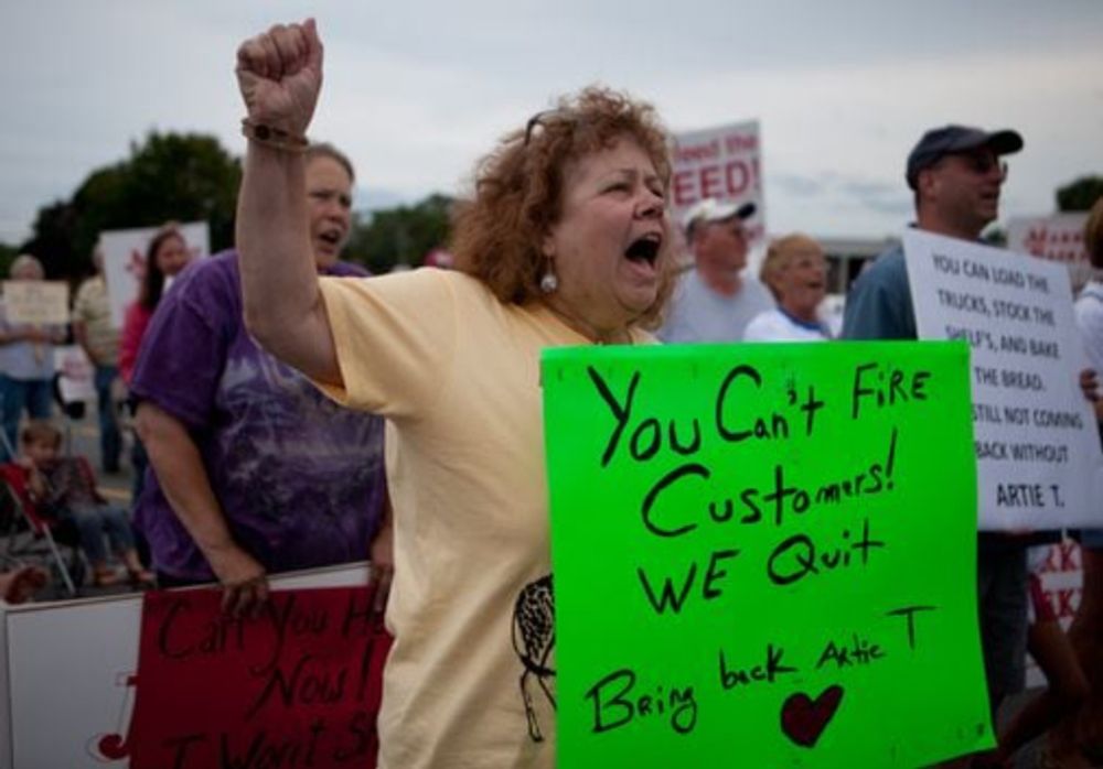
[[[979,526],[1103,526],[1103,455],[1080,391],[1063,267],[919,230],[903,236],[923,339],[972,348]]]

